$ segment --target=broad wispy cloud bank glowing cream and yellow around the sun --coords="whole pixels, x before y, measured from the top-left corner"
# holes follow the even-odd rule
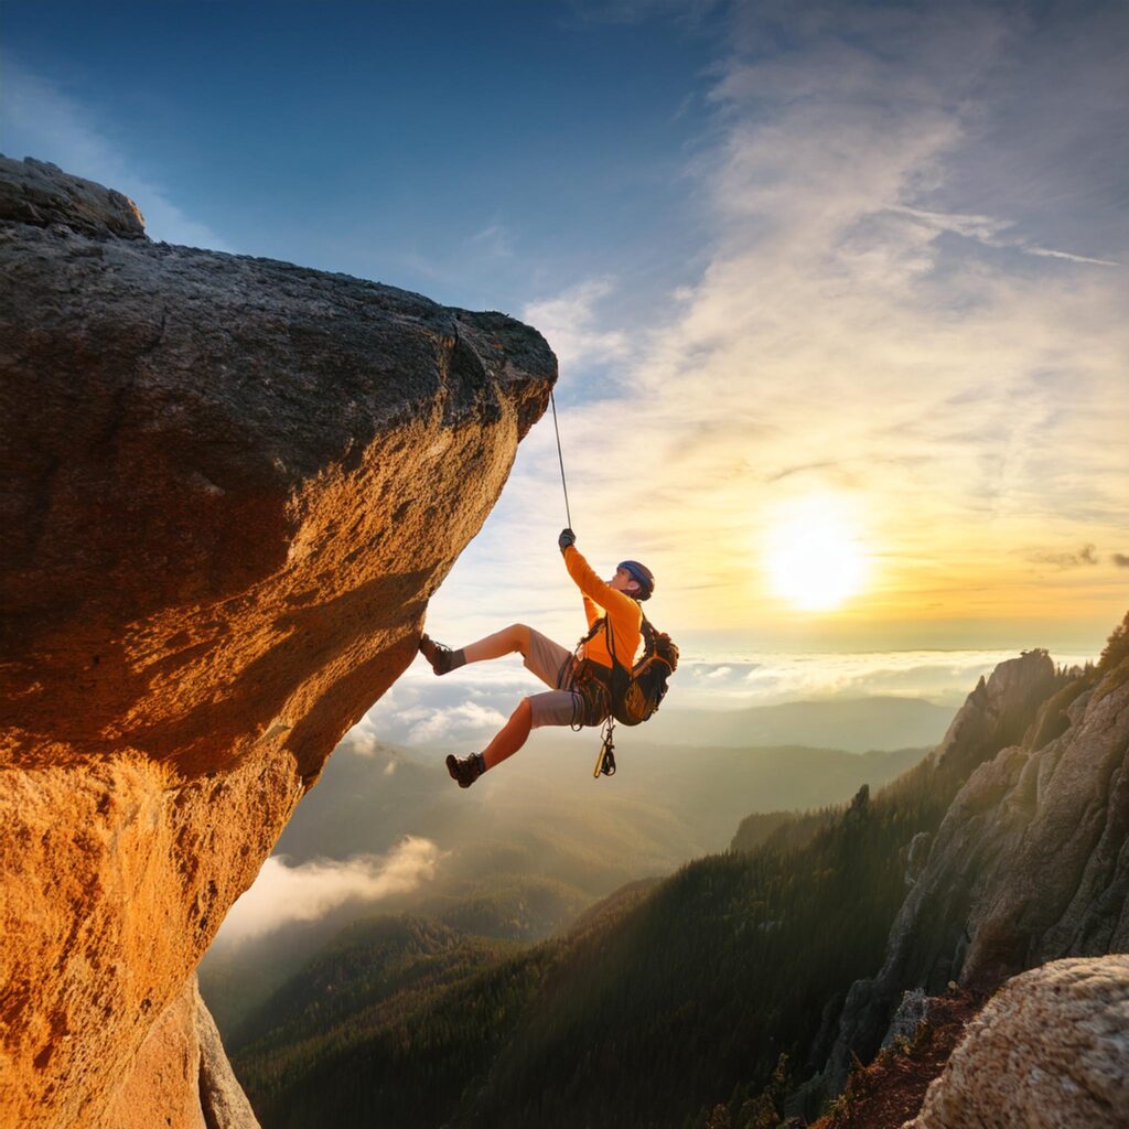
[[[1013,546],[1101,544],[1123,522],[1123,203],[1084,203],[1112,199],[1106,150],[1127,159],[1087,110],[1124,91],[1123,67],[1106,52],[1087,71],[1103,32],[1084,18],[765,11],[735,7],[717,140],[691,158],[712,233],[698,281],[630,333],[601,316],[612,279],[524,310],[562,382],[612,376],[560,420],[581,548],[648,561],[668,624],[780,627],[795,612],[767,589],[767,545],[814,495],[857,515],[872,621],[1068,607],[1075,590],[1048,587],[1066,570],[1036,579]],[[1058,108],[1040,119],[1024,106],[1048,85]],[[1021,160],[1013,134],[1039,143]],[[563,524],[551,422],[523,447],[498,519],[522,527],[507,574],[530,577]],[[479,576],[499,557],[473,557]],[[497,612],[549,603],[533,597]]]

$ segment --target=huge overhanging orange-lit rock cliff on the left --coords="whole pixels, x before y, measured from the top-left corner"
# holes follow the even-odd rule
[[[0,158],[0,1122],[116,1124],[555,359],[500,314],[154,244],[37,161]]]

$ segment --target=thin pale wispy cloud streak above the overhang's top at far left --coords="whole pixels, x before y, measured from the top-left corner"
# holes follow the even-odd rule
[[[77,94],[12,59],[0,55],[3,98],[0,134],[8,156],[49,160],[68,173],[116,189],[141,209],[150,238],[213,251],[234,251],[207,224],[192,219],[167,189],[142,170],[113,130]]]

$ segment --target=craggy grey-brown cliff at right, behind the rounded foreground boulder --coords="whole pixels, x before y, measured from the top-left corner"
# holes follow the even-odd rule
[[[1048,733],[1048,703],[1066,726],[1054,721],[1058,736],[1031,747]],[[1010,741],[992,755],[1001,737]],[[971,774],[933,840],[916,844],[883,968],[848,994],[819,1082],[824,1095],[841,1088],[852,1057],[874,1054],[903,990],[938,994],[948,981],[982,990],[1059,957],[1129,948],[1121,675],[1064,685],[1041,651],[1003,664],[954,720],[935,771],[954,764]]]

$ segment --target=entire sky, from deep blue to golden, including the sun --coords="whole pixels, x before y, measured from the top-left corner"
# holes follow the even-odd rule
[[[578,546],[702,685],[947,694],[1129,607],[1127,59],[1123,0],[0,0],[0,150],[527,321]],[[546,415],[428,630],[570,646],[564,524]]]

